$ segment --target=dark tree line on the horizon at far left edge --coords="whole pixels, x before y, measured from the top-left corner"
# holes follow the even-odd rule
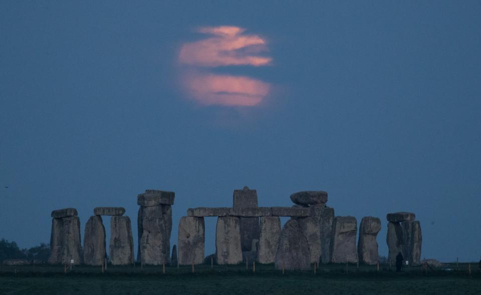
[[[29,249],[20,249],[15,241],[9,242],[6,239],[0,240],[0,261],[16,258],[47,261],[49,255],[49,244],[41,243],[40,245]]]

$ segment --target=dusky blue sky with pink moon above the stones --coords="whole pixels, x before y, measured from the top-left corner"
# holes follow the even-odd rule
[[[137,194],[420,220],[421,258],[481,255],[481,2],[2,1],[0,238],[49,242]],[[103,218],[109,236],[110,219]],[[283,218],[286,221],[286,218]],[[206,218],[205,255],[215,250]]]

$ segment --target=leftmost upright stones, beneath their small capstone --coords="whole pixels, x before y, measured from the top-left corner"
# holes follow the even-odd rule
[[[77,216],[52,219],[50,264],[80,264],[80,219]]]

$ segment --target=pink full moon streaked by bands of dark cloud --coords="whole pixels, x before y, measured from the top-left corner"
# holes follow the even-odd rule
[[[266,41],[258,35],[244,34],[245,31],[232,26],[203,27],[197,32],[210,37],[181,47],[178,60],[191,69],[184,73],[182,82],[194,99],[206,105],[256,106],[269,94],[270,84],[254,78],[192,71],[270,65],[272,58],[258,55],[268,50]]]

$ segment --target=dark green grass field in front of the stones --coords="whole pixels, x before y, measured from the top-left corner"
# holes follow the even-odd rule
[[[388,265],[320,265],[313,271],[275,270],[272,264],[221,266],[23,265],[0,269],[0,294],[480,294],[481,272],[467,263],[442,269],[407,267],[401,273]]]

